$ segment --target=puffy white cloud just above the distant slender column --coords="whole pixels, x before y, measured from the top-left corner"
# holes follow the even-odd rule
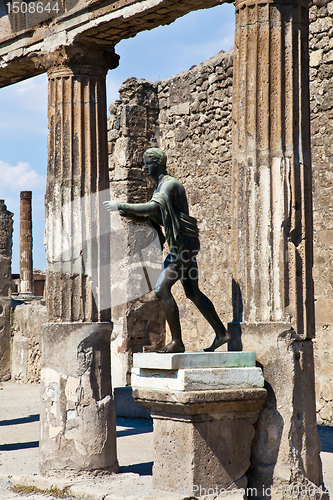
[[[0,179],[0,196],[3,198],[8,198],[10,192],[45,190],[45,177],[33,170],[28,162],[19,161],[12,166],[0,160]]]

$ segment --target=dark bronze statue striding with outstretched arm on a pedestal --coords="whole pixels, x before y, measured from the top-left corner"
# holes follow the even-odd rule
[[[161,245],[165,239],[169,253],[159,275],[155,293],[169,324],[172,341],[158,352],[184,352],[179,310],[171,294],[172,286],[180,279],[189,298],[215,331],[215,339],[205,351],[214,351],[232,337],[218,317],[212,302],[198,286],[196,256],[200,249],[197,221],[189,215],[184,186],[166,171],[167,157],[159,148],[150,148],[143,155],[146,175],[156,182],[152,199],[147,203],[118,203],[105,201],[109,211],[119,210],[121,215],[136,222],[149,220],[158,231]],[[165,237],[160,229],[164,227]]]

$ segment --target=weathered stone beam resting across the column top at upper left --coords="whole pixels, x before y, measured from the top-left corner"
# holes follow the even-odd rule
[[[57,2],[58,14],[43,10],[2,15],[0,19],[0,86],[35,76],[43,70],[33,60],[45,57],[59,46],[86,40],[114,47],[120,40],[143,30],[169,24],[193,10],[219,5],[218,0],[118,0],[109,6],[98,2]],[[222,2],[223,3],[223,2]],[[61,14],[63,14],[61,16]],[[45,18],[46,17],[46,18]],[[8,43],[9,42],[9,43]]]

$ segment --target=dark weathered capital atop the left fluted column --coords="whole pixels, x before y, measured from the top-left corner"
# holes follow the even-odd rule
[[[119,56],[112,46],[101,46],[86,42],[76,42],[69,46],[61,46],[53,52],[44,55],[32,55],[32,60],[38,68],[47,70],[48,75],[64,73],[83,75],[106,75],[109,69],[119,64]]]

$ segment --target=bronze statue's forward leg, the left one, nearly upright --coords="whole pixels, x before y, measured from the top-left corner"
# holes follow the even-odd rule
[[[179,278],[179,265],[172,261],[171,256],[168,255],[158,278],[155,293],[162,305],[165,318],[170,327],[172,341],[170,344],[162,347],[162,349],[157,352],[185,351],[185,346],[181,337],[179,309],[171,293],[171,287],[179,280]]]

